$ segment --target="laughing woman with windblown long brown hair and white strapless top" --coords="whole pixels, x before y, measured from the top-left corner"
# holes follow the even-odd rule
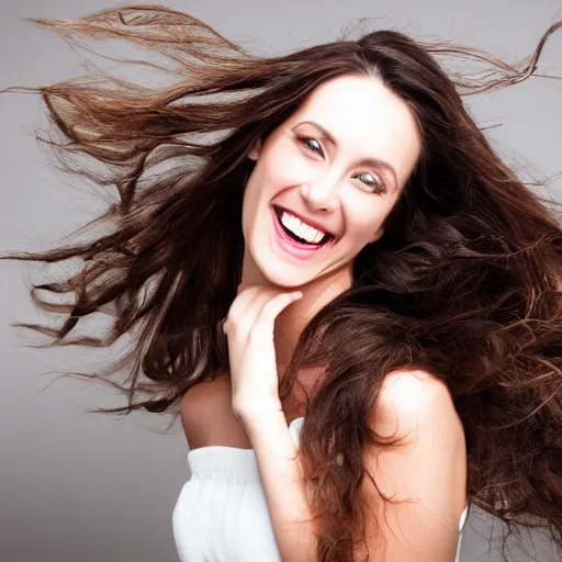
[[[561,541],[561,229],[457,91],[532,75],[560,23],[520,70],[390,31],[256,57],[161,7],[38,23],[179,65],[159,89],[40,89],[66,169],[120,201],[106,235],[18,258],[85,260],[33,292],[63,326],[25,326],[131,333],[98,374],[116,411],[180,405],[182,560],[451,561],[467,502]],[[439,52],[497,74],[452,80]],[[111,334],[69,340],[110,305]]]

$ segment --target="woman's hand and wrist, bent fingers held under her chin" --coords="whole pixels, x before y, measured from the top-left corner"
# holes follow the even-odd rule
[[[273,328],[283,308],[302,297],[272,285],[238,288],[223,329],[228,339],[233,412],[238,420],[281,408]]]

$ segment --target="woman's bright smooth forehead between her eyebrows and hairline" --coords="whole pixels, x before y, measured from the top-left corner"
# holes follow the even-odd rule
[[[315,121],[335,137],[338,150],[385,159],[398,176],[407,177],[419,155],[412,110],[378,78],[345,76],[324,82],[289,121],[291,126]]]

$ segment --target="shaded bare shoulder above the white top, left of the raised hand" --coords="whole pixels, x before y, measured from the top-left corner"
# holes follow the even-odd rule
[[[228,376],[192,386],[181,398],[180,417],[190,449],[211,445],[250,447],[232,409]]]

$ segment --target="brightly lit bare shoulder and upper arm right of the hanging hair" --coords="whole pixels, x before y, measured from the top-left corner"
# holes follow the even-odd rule
[[[427,560],[451,560],[467,503],[467,448],[447,385],[423,371],[392,372],[373,413],[373,431],[401,439],[364,454],[373,479],[366,480],[364,494],[381,508],[374,512],[386,524],[381,530],[395,557],[389,560],[426,560],[413,557],[411,547],[427,552]]]

